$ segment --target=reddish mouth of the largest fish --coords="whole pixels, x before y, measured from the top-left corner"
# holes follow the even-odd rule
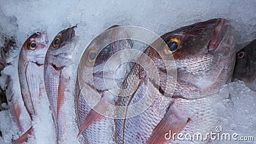
[[[228,32],[228,26],[230,23],[226,19],[219,19],[216,22],[214,31],[211,36],[211,41],[208,45],[208,51],[215,51],[221,43],[221,40],[225,37]]]

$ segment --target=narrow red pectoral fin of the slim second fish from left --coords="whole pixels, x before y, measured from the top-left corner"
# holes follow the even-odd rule
[[[60,76],[60,82],[58,87],[58,100],[57,100],[57,120],[59,117],[60,108],[64,102],[64,92],[69,80],[70,79]]]

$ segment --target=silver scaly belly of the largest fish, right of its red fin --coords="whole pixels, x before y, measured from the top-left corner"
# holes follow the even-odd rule
[[[184,135],[191,134],[191,136],[194,136],[193,134],[200,133],[202,134],[202,139],[204,139],[205,134],[210,131],[216,133],[216,131],[212,129],[217,126],[216,111],[212,108],[212,104],[216,102],[216,97],[218,97],[218,94],[195,100],[176,99],[173,104],[175,108],[177,108],[176,111],[186,111],[191,117],[191,120],[180,133]],[[184,108],[179,109],[180,105],[184,106]],[[170,140],[166,143],[207,143],[207,141],[209,141],[209,137],[207,140],[186,140],[185,138],[184,140],[177,140],[176,138],[175,141]]]

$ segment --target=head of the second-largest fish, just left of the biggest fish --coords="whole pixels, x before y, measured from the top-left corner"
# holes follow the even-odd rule
[[[82,83],[83,81],[87,81],[87,83],[90,83],[90,85],[94,85],[99,92],[104,92],[108,89],[106,88],[103,78],[104,70],[106,70],[105,64],[116,52],[124,49],[131,49],[131,40],[120,40],[120,38],[124,36],[127,37],[127,35],[128,34],[124,28],[115,25],[93,38],[92,42],[90,42],[84,51],[79,64],[79,69],[83,68],[83,73],[81,74],[83,74],[84,78],[82,79],[84,80],[82,80]],[[88,76],[88,72],[92,72],[93,77]],[[107,80],[119,80],[115,79],[115,77],[111,75],[113,73],[110,73],[111,72],[106,71],[104,73],[106,74],[104,77]]]

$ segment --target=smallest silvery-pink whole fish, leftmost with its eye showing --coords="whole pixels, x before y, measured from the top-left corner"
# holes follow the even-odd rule
[[[20,49],[18,61],[20,91],[31,121],[36,116],[36,111],[41,110],[36,109],[36,105],[40,104],[42,97],[46,97],[44,58],[49,46],[48,43],[46,32],[36,32],[29,36]],[[19,107],[17,109],[20,111]],[[27,141],[28,134],[33,134],[33,127],[30,127],[14,143]]]

